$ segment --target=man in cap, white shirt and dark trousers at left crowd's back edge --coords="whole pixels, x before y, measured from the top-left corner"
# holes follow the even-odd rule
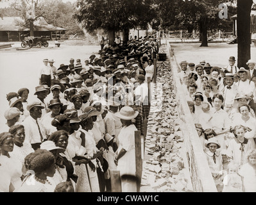
[[[51,86],[51,80],[54,79],[53,71],[48,65],[49,60],[47,58],[44,59],[43,62],[44,65],[42,65],[38,70],[39,85],[46,82],[48,86]]]

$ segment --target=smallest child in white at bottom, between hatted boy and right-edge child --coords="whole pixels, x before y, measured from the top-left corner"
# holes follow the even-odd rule
[[[223,179],[222,192],[242,192],[242,179],[235,163],[228,165],[228,174]]]

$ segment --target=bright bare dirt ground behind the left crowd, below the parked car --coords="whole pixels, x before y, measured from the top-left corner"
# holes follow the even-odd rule
[[[17,92],[19,88],[30,89],[29,98],[35,93],[35,86],[38,86],[38,67],[42,65],[44,58],[55,60],[55,67],[60,64],[69,65],[69,59],[80,58],[83,63],[89,59],[91,54],[98,55],[99,45],[69,45],[61,44],[55,47],[54,42],[49,42],[49,47],[31,48],[24,51],[17,51],[21,47],[20,42],[13,42],[12,48],[0,49],[0,126],[6,123],[4,111],[8,108],[6,94]]]

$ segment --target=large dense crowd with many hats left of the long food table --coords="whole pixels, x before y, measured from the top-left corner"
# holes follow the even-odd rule
[[[42,60],[35,90],[6,94],[0,191],[111,192],[110,171],[119,170],[122,192],[136,192],[122,176],[135,176],[157,44],[133,39],[60,67]]]

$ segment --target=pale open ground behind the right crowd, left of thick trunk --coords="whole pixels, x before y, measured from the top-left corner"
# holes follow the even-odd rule
[[[209,43],[209,47],[200,47],[200,43],[172,44],[178,63],[187,60],[189,63],[199,64],[201,60],[210,63],[211,66],[225,67],[228,58],[235,56],[237,60],[237,44]],[[251,58],[256,58],[256,47],[251,45]],[[237,65],[237,62],[235,63]]]

